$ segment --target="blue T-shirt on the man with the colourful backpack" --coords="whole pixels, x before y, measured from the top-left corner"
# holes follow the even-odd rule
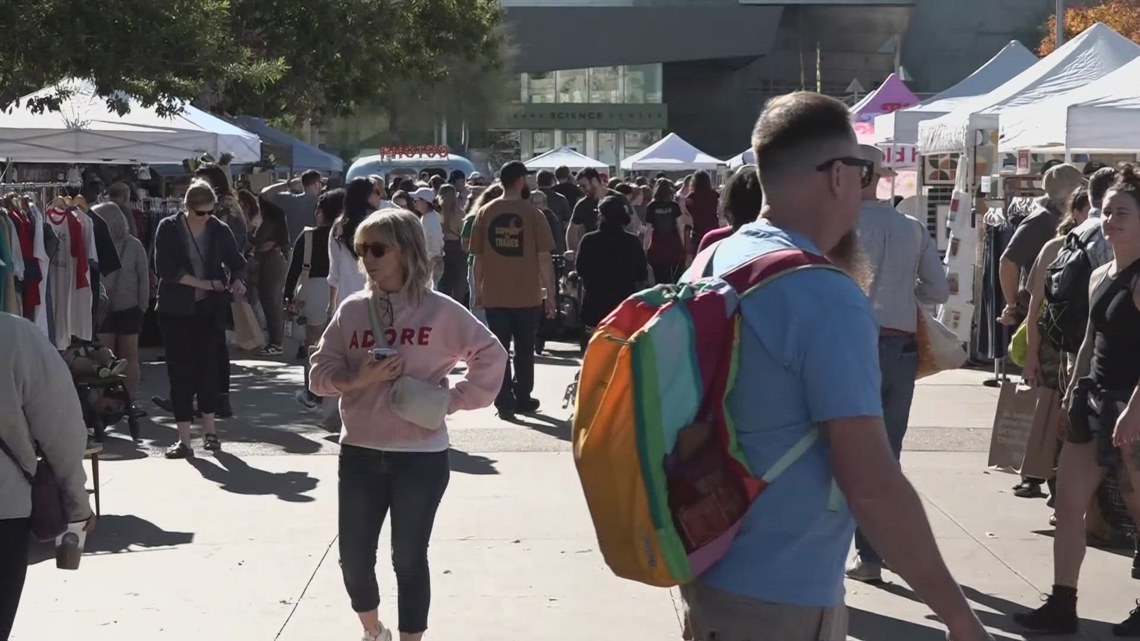
[[[712,273],[792,248],[822,253],[804,236],[760,220],[720,241]],[[882,415],[879,328],[854,281],[805,270],[741,305],[748,331],[728,411],[755,473],[825,421]],[[855,522],[846,502],[831,501],[826,447],[821,439],[756,498],[727,554],[701,581],[776,603],[842,602]]]

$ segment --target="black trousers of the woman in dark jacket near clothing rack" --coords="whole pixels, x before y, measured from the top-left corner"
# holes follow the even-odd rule
[[[170,379],[174,421],[188,423],[194,420],[195,395],[203,414],[215,414],[223,366],[219,363],[219,343],[225,346],[226,342],[218,314],[210,303],[199,302],[194,308],[194,316],[160,314],[158,327],[162,347],[166,351],[166,376]]]

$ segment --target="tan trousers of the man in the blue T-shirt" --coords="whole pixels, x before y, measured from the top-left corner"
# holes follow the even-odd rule
[[[847,607],[771,603],[702,584],[681,586],[693,641],[846,641]]]

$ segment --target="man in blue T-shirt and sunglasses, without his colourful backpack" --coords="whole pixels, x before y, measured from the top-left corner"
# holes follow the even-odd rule
[[[820,438],[752,501],[724,557],[682,585],[697,641],[746,641],[757,631],[781,641],[846,639],[844,567],[856,519],[948,639],[990,639],[883,429],[879,326],[860,287],[866,269],[855,233],[873,163],[849,119],[842,103],[817,94],[771,100],[752,135],[762,218],[706,250],[711,259],[702,253],[692,268],[702,273],[686,275],[719,277],[789,250],[826,255],[847,273],[791,269],[740,302],[726,407],[749,465],[780,468],[805,436]]]

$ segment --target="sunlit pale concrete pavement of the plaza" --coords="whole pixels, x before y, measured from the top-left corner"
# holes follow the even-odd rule
[[[539,366],[546,419],[508,425],[489,411],[455,421],[453,476],[432,539],[429,638],[491,641],[678,639],[674,593],[614,578],[597,553],[560,421],[572,363]],[[336,452],[290,398],[299,373],[242,360],[239,416],[226,452],[195,461],[154,454],[173,438],[165,419],[145,443],[115,441],[103,464],[104,518],[79,571],[30,570],[13,639],[358,639],[336,563]],[[149,396],[161,367],[148,366]],[[1015,479],[985,470],[996,390],[978,372],[919,386],[904,468],[922,495],[943,553],[999,639],[1021,639],[1009,614],[1035,607],[1051,583],[1049,512],[1015,498]],[[152,387],[153,386],[153,387]],[[382,615],[394,624],[394,583],[378,568]],[[1132,607],[1126,558],[1090,550],[1082,639]],[[888,574],[888,577],[890,575]],[[939,640],[944,633],[897,577],[848,586],[850,639]]]

